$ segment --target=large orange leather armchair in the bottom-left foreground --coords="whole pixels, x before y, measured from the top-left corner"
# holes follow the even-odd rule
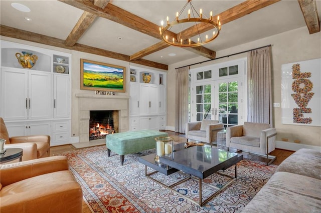
[[[0,165],[0,212],[82,212],[82,189],[67,156]]]

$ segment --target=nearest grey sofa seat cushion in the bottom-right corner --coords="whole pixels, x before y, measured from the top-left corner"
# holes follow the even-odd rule
[[[321,180],[276,172],[242,212],[321,212]]]

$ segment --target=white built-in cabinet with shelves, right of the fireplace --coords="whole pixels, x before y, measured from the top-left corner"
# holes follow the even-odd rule
[[[165,130],[167,73],[131,66],[130,75],[130,130]]]

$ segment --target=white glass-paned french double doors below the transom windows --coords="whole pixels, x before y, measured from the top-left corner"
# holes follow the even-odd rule
[[[195,83],[192,97],[192,119],[219,120],[224,126],[242,120],[242,77]]]

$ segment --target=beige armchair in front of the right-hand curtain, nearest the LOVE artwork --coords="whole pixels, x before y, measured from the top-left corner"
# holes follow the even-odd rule
[[[266,155],[269,164],[272,161],[269,162],[268,154],[275,149],[275,135],[276,129],[268,123],[244,122],[227,127],[226,146]]]

